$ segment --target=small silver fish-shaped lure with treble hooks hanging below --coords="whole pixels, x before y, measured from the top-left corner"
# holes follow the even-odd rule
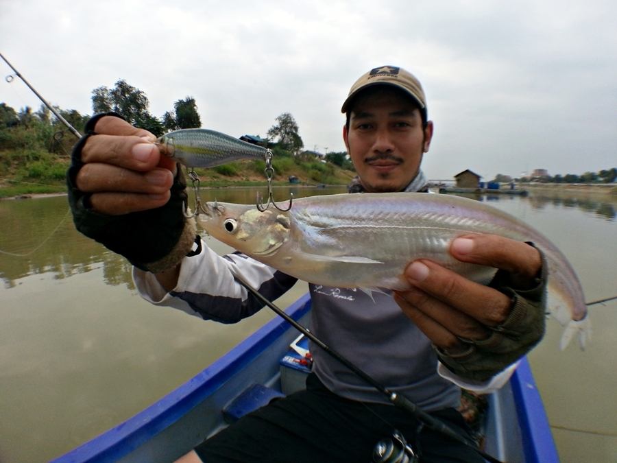
[[[208,129],[182,129],[158,139],[163,154],[186,167],[215,167],[237,159],[265,159],[267,150]]]

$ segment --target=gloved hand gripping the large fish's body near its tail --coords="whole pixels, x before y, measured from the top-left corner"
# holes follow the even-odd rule
[[[535,247],[497,235],[459,237],[450,254],[498,272],[485,286],[420,259],[405,270],[413,289],[394,298],[431,339],[442,364],[485,381],[542,339],[546,265]]]

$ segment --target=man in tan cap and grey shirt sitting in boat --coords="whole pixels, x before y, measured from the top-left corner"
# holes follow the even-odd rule
[[[358,180],[354,191],[424,191],[420,170],[433,137],[420,82],[398,67],[372,69],[343,103],[343,139]],[[274,299],[295,279],[237,254],[218,257],[182,215],[176,167],[154,137],[117,117],[95,117],[75,147],[69,200],[78,229],[136,265],[153,303],[206,319],[237,321],[260,309],[230,268]],[[175,177],[175,179],[174,179]],[[405,276],[413,290],[372,300],[361,292],[317,290],[313,333],[390,390],[407,396],[461,435],[459,385],[488,391],[544,333],[542,257],[531,244],[494,235],[452,241],[461,261],[498,272],[483,286],[420,259]],[[185,257],[186,256],[186,257]],[[328,355],[313,349],[307,390],[275,401],[199,445],[186,462],[367,462],[398,429],[422,462],[481,462],[470,447],[423,429]]]

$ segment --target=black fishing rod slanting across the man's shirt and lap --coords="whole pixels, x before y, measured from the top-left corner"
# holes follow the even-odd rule
[[[476,444],[474,444],[470,440],[465,439],[460,434],[457,434],[457,432],[455,432],[452,429],[450,429],[450,427],[448,427],[441,420],[439,420],[437,418],[433,418],[433,416],[431,416],[428,413],[424,412],[424,410],[422,410],[420,407],[418,407],[418,405],[415,405],[415,403],[413,403],[412,401],[407,399],[407,397],[402,396],[401,394],[397,394],[396,392],[393,392],[393,391],[389,390],[383,384],[381,384],[378,381],[376,381],[376,379],[374,379],[373,377],[368,375],[366,372],[361,370],[361,368],[359,368],[358,366],[353,364],[352,361],[350,361],[349,359],[347,359],[346,357],[341,355],[341,353],[335,351],[335,349],[333,349],[330,346],[328,346],[328,344],[325,344],[322,340],[320,340],[317,336],[315,336],[309,329],[307,329],[306,327],[302,326],[302,324],[300,324],[300,323],[296,322],[295,320],[293,320],[293,318],[291,318],[287,313],[285,313],[285,311],[283,311],[282,309],[277,307],[273,302],[271,302],[270,300],[268,300],[267,298],[265,298],[264,296],[259,294],[259,292],[256,289],[254,289],[254,287],[252,287],[249,283],[247,283],[247,281],[245,281],[241,276],[239,276],[238,274],[234,273],[234,278],[243,287],[245,287],[248,292],[250,292],[258,300],[260,300],[260,302],[263,302],[264,305],[267,305],[267,307],[269,307],[272,311],[274,311],[278,316],[280,316],[283,319],[285,319],[285,321],[287,321],[289,324],[291,324],[292,327],[294,327],[295,329],[300,331],[300,333],[302,333],[303,335],[308,337],[309,340],[311,340],[315,344],[317,344],[317,346],[319,346],[319,348],[322,348],[328,355],[330,355],[330,357],[333,357],[334,359],[339,361],[341,364],[343,364],[344,366],[349,368],[352,372],[354,372],[354,374],[356,376],[361,378],[366,383],[369,383],[376,390],[378,390],[379,392],[381,392],[382,394],[387,396],[387,399],[395,407],[398,407],[400,409],[403,409],[403,410],[409,412],[411,415],[413,415],[415,418],[417,418],[421,423],[426,425],[426,427],[428,427],[428,429],[431,429],[433,431],[437,431],[437,432],[443,434],[444,436],[448,436],[449,438],[451,438],[453,440],[456,440],[457,442],[459,442],[461,444],[464,444],[464,445],[466,445],[468,447],[471,447],[472,449],[474,449],[474,451],[479,453],[488,462],[491,462],[491,463],[503,463],[500,460],[497,460],[496,458],[494,458],[492,455],[489,455],[488,453],[485,453],[484,451],[479,449],[476,446]],[[402,436],[400,436],[400,434],[398,434],[398,433],[395,433],[394,437],[397,440],[398,439],[402,439]],[[400,441],[400,444],[404,445],[405,444],[404,440]],[[412,456],[413,456],[413,454],[412,454]],[[382,460],[382,461],[386,461],[386,460]],[[387,461],[391,461],[391,460],[387,460]],[[396,461],[398,461],[398,460],[396,460]],[[400,460],[400,461],[409,461],[409,460]]]

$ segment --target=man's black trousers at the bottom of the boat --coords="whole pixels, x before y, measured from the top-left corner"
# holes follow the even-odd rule
[[[465,437],[456,409],[432,412]],[[484,462],[470,447],[422,427],[391,405],[343,399],[309,375],[306,390],[241,418],[195,449],[204,463],[370,463],[377,442],[397,429],[422,463]]]

